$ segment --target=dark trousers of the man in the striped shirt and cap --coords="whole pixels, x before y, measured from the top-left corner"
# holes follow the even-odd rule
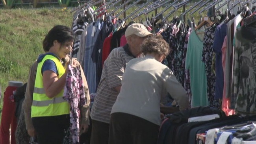
[[[109,124],[92,120],[91,144],[108,144]]]

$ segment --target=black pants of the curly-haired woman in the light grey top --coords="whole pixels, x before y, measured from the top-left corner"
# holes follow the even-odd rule
[[[109,144],[156,144],[159,127],[131,114],[113,113],[110,119]]]

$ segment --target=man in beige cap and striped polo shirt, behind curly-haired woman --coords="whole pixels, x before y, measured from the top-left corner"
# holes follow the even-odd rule
[[[121,89],[126,64],[141,55],[140,45],[153,34],[143,24],[131,24],[125,31],[127,44],[115,48],[104,62],[102,76],[91,109],[91,144],[108,144],[110,112]]]

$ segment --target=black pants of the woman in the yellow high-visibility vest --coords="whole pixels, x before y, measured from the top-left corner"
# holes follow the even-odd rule
[[[69,128],[69,114],[32,118],[38,144],[63,144],[64,130]]]

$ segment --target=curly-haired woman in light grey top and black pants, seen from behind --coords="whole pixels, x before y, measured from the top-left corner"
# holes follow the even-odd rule
[[[132,59],[122,77],[121,92],[111,111],[109,144],[156,144],[160,127],[160,100],[167,92],[180,110],[189,107],[186,90],[161,62],[169,44],[161,35],[145,39],[145,57]]]

